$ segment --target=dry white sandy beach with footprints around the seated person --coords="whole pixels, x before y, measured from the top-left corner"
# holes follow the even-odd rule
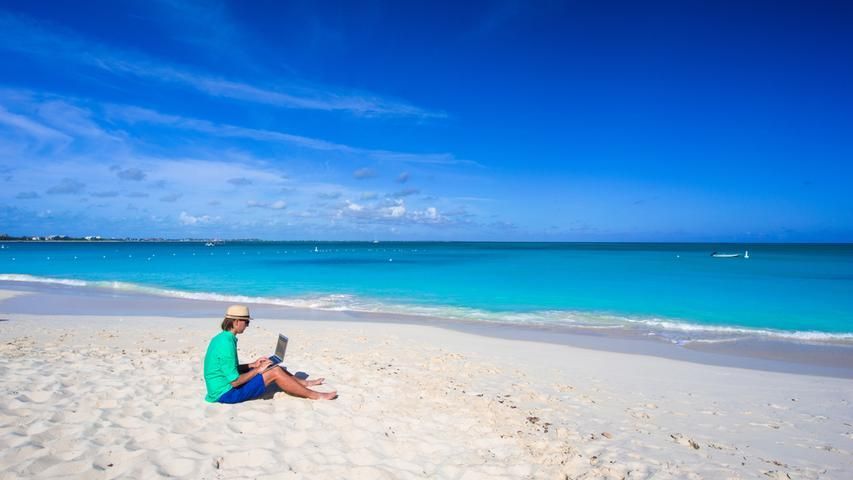
[[[0,479],[853,478],[850,380],[259,318],[242,360],[284,332],[291,371],[340,398],[208,404],[217,314],[0,306]]]

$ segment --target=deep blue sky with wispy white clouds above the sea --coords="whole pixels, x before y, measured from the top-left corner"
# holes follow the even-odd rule
[[[853,241],[849,2],[0,1],[0,232]]]

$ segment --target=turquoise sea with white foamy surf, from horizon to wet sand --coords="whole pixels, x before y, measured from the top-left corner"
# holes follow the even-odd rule
[[[853,340],[853,245],[8,242],[0,280],[677,339]]]

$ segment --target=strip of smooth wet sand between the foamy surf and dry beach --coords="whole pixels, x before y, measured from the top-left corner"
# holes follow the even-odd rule
[[[20,292],[0,301],[4,314],[150,316],[161,312],[184,318],[217,315],[231,303],[152,295],[93,286],[0,281],[0,290]],[[421,325],[508,340],[565,345],[588,350],[638,354],[703,365],[769,372],[853,378],[853,345],[746,338],[726,342],[672,342],[619,328],[550,327],[446,319],[382,312],[332,311],[249,303],[258,318]]]

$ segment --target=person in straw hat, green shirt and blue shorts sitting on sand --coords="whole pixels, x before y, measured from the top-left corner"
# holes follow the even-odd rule
[[[332,400],[336,392],[309,389],[321,385],[323,379],[302,380],[283,368],[270,368],[270,360],[261,357],[247,365],[237,364],[237,335],[246,331],[252,317],[249,307],[231,305],[222,320],[222,332],[213,337],[204,355],[204,383],[208,402],[240,403],[264,394],[271,383],[285,392],[312,400]],[[243,373],[240,373],[243,372]]]

